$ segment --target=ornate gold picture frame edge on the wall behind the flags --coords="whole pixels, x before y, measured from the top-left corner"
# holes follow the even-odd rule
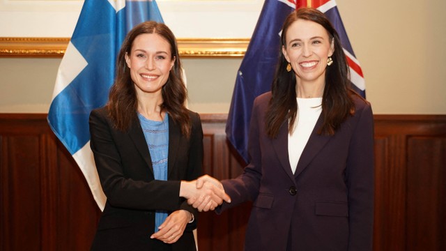
[[[0,57],[49,57],[65,54],[70,38],[0,37]],[[243,57],[249,38],[178,38],[183,57]]]

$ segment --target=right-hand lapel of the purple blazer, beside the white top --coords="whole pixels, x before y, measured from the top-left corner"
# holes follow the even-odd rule
[[[325,146],[325,144],[327,144],[327,142],[330,140],[331,137],[328,135],[318,135],[317,131],[319,128],[321,128],[321,126],[322,114],[319,116],[312,134],[309,136],[308,142],[302,151],[302,155],[300,155],[298,167],[295,169],[294,176],[298,176],[309,165],[309,163],[312,162],[313,158],[319,151],[321,151],[323,146]]]

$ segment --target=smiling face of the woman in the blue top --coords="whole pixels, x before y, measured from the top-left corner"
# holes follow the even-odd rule
[[[134,39],[130,54],[125,54],[137,95],[161,96],[161,89],[174,66],[169,42],[156,33],[143,33]]]

